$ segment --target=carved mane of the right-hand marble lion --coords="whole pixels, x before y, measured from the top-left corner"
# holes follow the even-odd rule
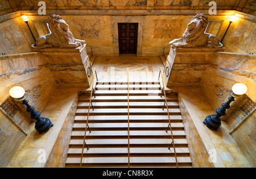
[[[185,43],[194,43],[202,34],[204,34],[207,28],[208,17],[206,15],[197,14],[192,20],[194,19],[197,19],[196,27],[192,30],[188,30],[187,28],[182,35],[183,42]]]

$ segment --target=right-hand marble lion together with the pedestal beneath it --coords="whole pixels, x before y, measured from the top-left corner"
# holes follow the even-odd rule
[[[170,41],[163,71],[167,86],[198,86],[214,53],[225,50],[216,36],[205,33],[207,24],[207,16],[197,14],[183,36]]]

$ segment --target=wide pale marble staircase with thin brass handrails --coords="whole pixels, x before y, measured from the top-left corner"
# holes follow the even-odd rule
[[[159,82],[129,83],[130,167],[176,167],[167,109]],[[127,84],[96,84],[86,132],[82,167],[127,167]],[[90,95],[81,95],[69,143],[66,167],[80,167]],[[179,167],[191,167],[175,93],[167,95]]]

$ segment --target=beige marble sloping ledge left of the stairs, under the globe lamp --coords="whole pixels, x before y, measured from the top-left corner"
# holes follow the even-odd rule
[[[38,134],[35,130],[34,123],[31,123],[27,130],[28,136],[23,140],[7,167],[44,167],[61,127],[63,126],[64,120],[67,118],[72,103],[80,90],[86,89],[61,88],[60,86],[53,91],[55,95],[52,96],[41,113],[42,117],[51,120],[53,127],[46,133]],[[43,159],[46,159],[46,161],[43,161]]]

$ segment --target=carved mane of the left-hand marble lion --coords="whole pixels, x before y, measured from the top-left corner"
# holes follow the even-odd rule
[[[63,30],[60,27],[60,20],[62,20],[60,15],[52,14],[49,16],[49,29],[52,32],[52,36],[60,41],[61,44],[74,43],[75,38],[70,30]]]

